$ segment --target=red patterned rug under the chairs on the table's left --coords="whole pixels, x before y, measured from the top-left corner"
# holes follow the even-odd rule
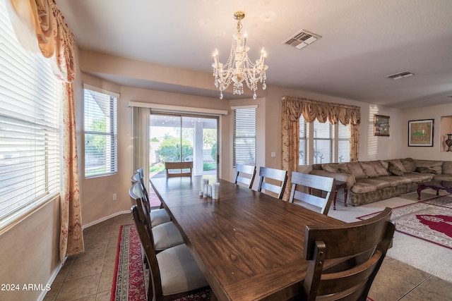
[[[143,266],[140,237],[135,225],[121,226],[114,268],[112,301],[145,301],[148,271]],[[210,290],[177,301],[208,301]]]

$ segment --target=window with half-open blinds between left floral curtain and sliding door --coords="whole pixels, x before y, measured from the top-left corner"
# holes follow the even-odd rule
[[[84,102],[85,178],[114,174],[117,172],[117,97],[85,86]]]

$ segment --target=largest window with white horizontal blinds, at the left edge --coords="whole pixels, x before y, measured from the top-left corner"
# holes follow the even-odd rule
[[[59,192],[61,82],[18,43],[0,1],[0,224]]]

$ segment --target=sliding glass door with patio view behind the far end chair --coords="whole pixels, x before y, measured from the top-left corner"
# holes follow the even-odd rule
[[[193,161],[194,175],[217,174],[218,118],[150,114],[150,178],[165,176],[165,161]]]

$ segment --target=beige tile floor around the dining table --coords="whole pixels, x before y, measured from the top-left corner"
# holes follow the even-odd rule
[[[340,216],[353,208],[338,206],[332,214]],[[119,228],[130,223],[131,215],[121,214],[86,228],[85,253],[67,259],[44,300],[109,301]],[[386,257],[369,297],[375,301],[452,300],[452,283]]]

